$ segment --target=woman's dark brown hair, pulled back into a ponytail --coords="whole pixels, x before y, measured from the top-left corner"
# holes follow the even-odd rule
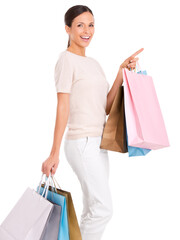
[[[67,10],[67,12],[65,13],[65,15],[64,15],[64,23],[65,23],[65,25],[67,25],[68,27],[71,27],[73,19],[75,17],[79,16],[83,12],[90,12],[93,15],[91,9],[88,8],[85,5],[75,5],[75,6],[71,7],[71,8],[69,8]],[[70,38],[68,40],[67,47],[69,47],[69,46],[70,46]]]

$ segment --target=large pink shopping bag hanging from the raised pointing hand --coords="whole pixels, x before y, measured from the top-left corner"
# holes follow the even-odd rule
[[[154,150],[168,147],[169,140],[152,77],[124,68],[123,80],[129,146]]]

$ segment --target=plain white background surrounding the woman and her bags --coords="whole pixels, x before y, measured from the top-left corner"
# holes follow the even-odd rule
[[[67,47],[65,12],[91,8],[95,34],[86,49],[104,69],[110,85],[120,64],[139,54],[153,77],[171,146],[145,157],[109,151],[114,215],[103,239],[179,240],[179,7],[178,1],[16,0],[0,3],[0,222],[27,187],[36,189],[49,156],[57,96],[54,66]],[[66,161],[64,140],[55,174],[70,191],[76,214],[81,188]]]

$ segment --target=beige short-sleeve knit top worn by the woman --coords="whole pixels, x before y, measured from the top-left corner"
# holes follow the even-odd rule
[[[99,62],[65,50],[55,65],[56,92],[70,94],[66,139],[102,136],[109,83]]]

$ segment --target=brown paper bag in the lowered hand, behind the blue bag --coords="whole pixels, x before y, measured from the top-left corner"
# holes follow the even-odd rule
[[[53,182],[54,182],[54,180],[57,182],[57,180],[54,178],[54,176],[52,177],[52,179],[53,179]],[[56,186],[55,182],[54,182],[54,185]],[[44,184],[42,184],[41,186],[44,187]],[[58,186],[59,186],[59,184],[58,184]],[[55,192],[55,190],[53,190],[52,186],[49,186],[49,190],[52,192]],[[73,200],[71,197],[71,193],[62,190],[60,188],[60,186],[59,186],[59,188],[56,187],[56,190],[57,190],[58,194],[63,195],[66,198],[70,240],[82,240]]]

